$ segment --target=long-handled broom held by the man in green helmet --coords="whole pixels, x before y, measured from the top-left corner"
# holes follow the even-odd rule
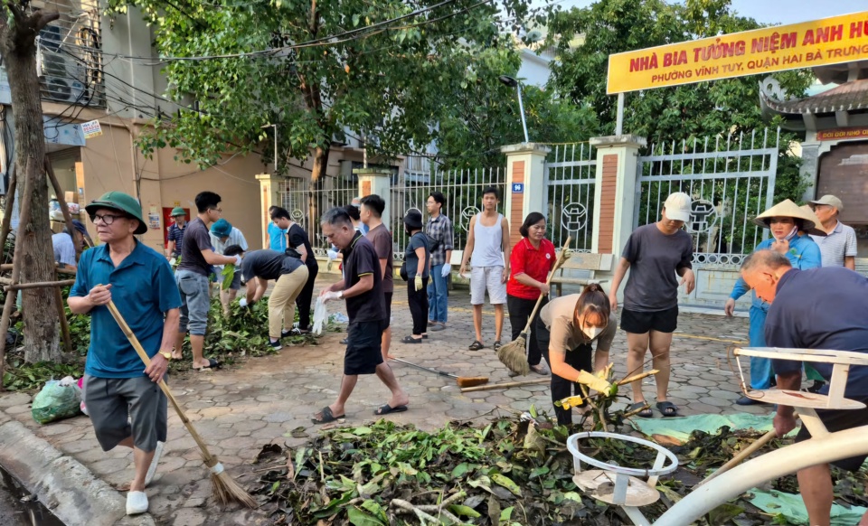
[[[136,350],[138,357],[142,359],[142,362],[145,362],[145,366],[150,365],[151,359],[147,357],[147,353],[145,349],[142,347],[142,344],[138,342],[138,338],[136,334],[129,328],[127,322],[124,321],[124,317],[120,315],[120,311],[118,311],[118,307],[115,303],[109,300],[109,312],[112,317],[115,318],[115,321],[118,322],[118,326],[120,330],[124,332],[127,336],[127,340],[133,346],[133,349]],[[229,476],[228,473],[223,469],[223,465],[217,461],[216,456],[212,456],[212,454],[208,451],[208,446],[205,446],[205,442],[202,437],[199,436],[199,433],[196,432],[195,427],[193,427],[193,423],[189,418],[184,414],[184,410],[181,409],[181,406],[178,405],[178,400],[175,399],[175,395],[172,394],[172,391],[169,390],[169,387],[165,385],[164,380],[160,380],[157,384],[160,386],[160,389],[165,393],[165,398],[169,399],[172,402],[172,406],[175,408],[175,411],[178,413],[178,416],[181,417],[181,421],[184,422],[184,427],[190,431],[190,435],[193,436],[193,440],[196,441],[196,444],[202,450],[202,458],[205,462],[205,465],[208,466],[208,469],[211,471],[211,482],[212,482],[212,495],[217,499],[222,505],[226,505],[228,503],[241,503],[249,508],[256,508],[258,504],[253,497],[250,496],[250,493],[247,493],[244,488],[242,488],[238,483]]]

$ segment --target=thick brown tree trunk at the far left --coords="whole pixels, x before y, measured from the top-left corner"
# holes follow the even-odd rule
[[[12,2],[8,8],[13,16],[0,23],[0,52],[9,77],[12,110],[15,117],[15,172],[31,181],[19,183],[30,187],[29,195],[19,199],[30,201],[31,219],[18,227],[17,243],[21,243],[21,282],[32,283],[54,279],[54,251],[48,216],[48,183],[45,174],[45,136],[42,131],[42,104],[39,78],[36,75],[35,37],[46,24],[58,18],[56,13],[24,12],[24,2]],[[27,160],[33,158],[34,170],[27,171]],[[29,183],[29,184],[28,184]],[[58,309],[51,288],[23,291],[24,360],[26,362],[62,361],[58,338]]]

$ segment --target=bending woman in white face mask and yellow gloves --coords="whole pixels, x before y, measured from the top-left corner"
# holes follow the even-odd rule
[[[540,320],[536,341],[552,369],[552,401],[581,395],[576,383],[580,371],[601,371],[609,365],[609,349],[618,328],[609,296],[599,284],[591,283],[581,294],[553,299],[542,308]],[[558,425],[572,424],[569,409],[555,407],[554,413]]]

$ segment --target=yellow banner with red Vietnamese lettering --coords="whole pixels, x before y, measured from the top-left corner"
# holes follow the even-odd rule
[[[609,55],[609,94],[868,60],[868,11]]]

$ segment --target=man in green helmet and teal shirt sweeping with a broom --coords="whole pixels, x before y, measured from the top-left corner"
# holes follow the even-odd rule
[[[90,314],[84,399],[99,446],[133,449],[136,474],[127,514],[144,513],[145,486],[156,471],[167,427],[166,398],[156,382],[172,358],[181,296],[165,257],[134,237],[147,230],[134,197],[109,192],[85,210],[104,244],[81,255],[68,301],[73,313]],[[132,322],[150,357],[147,367],[109,312],[112,300]]]

